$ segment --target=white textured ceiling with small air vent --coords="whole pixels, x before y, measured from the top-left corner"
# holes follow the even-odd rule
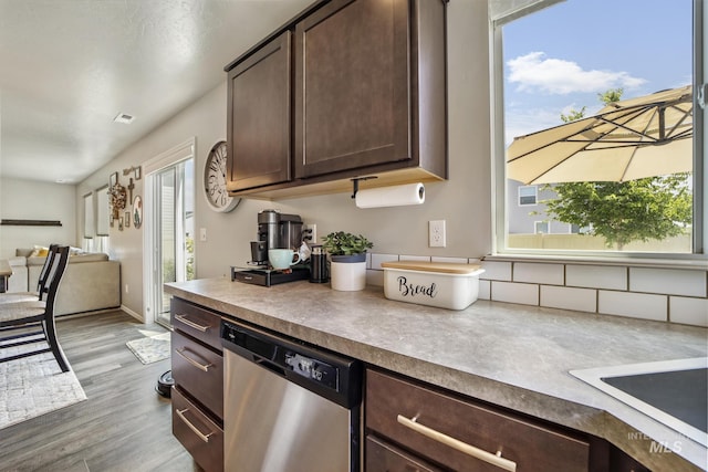
[[[0,0],[0,176],[83,180],[312,1]]]

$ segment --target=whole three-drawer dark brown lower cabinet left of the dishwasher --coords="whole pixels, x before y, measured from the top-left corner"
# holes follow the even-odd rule
[[[216,312],[173,298],[173,434],[206,472],[223,471],[220,322]]]

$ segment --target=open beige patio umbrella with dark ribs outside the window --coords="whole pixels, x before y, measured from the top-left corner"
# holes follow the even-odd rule
[[[523,183],[625,181],[693,170],[693,87],[614,102],[514,138],[507,177]]]

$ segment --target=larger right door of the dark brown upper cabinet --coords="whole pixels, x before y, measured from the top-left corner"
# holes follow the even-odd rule
[[[295,25],[295,177],[412,159],[408,0],[335,0]]]

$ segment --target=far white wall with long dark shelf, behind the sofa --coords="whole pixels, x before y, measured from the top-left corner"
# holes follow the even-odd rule
[[[0,219],[59,220],[61,227],[0,225],[0,259],[17,248],[51,243],[80,247],[76,233],[76,187],[17,178],[0,178]]]

